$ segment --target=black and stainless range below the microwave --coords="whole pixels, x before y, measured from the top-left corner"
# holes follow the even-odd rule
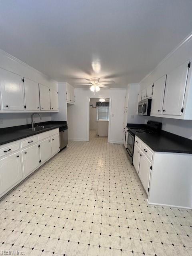
[[[127,143],[126,143],[126,151],[128,153],[128,159],[130,162],[133,162],[133,152],[134,152],[134,143],[135,143],[135,135],[139,133],[149,133],[155,134],[161,131],[162,123],[147,121],[147,124],[127,124]]]

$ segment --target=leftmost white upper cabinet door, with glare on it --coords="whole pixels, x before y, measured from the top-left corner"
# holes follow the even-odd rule
[[[21,76],[0,68],[0,89],[3,110],[24,110]]]

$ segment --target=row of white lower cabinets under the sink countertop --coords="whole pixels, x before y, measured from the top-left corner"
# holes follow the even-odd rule
[[[0,198],[59,150],[59,128],[0,146]]]

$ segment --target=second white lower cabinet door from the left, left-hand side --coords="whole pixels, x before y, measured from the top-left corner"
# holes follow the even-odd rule
[[[22,150],[22,159],[24,176],[27,176],[30,172],[36,170],[40,165],[38,144],[35,144]]]

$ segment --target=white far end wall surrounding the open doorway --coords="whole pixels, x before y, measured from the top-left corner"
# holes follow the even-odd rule
[[[123,112],[125,89],[104,89],[96,93],[98,98],[112,98],[110,142],[122,143]],[[75,89],[75,104],[68,106],[69,140],[86,141],[87,138],[87,99],[93,92]],[[69,105],[69,104],[68,104]]]

